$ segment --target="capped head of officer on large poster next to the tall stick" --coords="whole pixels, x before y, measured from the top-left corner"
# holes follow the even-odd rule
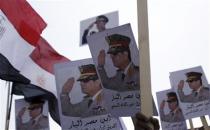
[[[131,62],[129,44],[131,39],[121,34],[112,34],[105,37],[109,44],[108,54],[110,54],[115,67],[125,69]]]

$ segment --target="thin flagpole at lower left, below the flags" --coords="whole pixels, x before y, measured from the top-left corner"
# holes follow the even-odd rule
[[[6,122],[5,122],[5,130],[9,130],[9,120],[10,120],[10,112],[12,105],[12,94],[11,94],[11,85],[8,82],[8,92],[7,92],[7,104],[6,104]]]

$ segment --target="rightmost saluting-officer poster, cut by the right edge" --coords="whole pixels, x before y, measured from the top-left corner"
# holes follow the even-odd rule
[[[207,115],[210,110],[210,88],[201,66],[170,73],[185,118]]]

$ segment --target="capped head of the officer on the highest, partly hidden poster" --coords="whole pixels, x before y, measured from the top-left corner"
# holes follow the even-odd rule
[[[96,27],[98,31],[103,31],[106,29],[106,23],[109,21],[109,19],[104,15],[99,15],[96,17]]]

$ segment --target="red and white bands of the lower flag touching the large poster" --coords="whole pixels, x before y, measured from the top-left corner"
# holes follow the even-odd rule
[[[67,61],[70,60],[57,53],[44,38],[40,38],[20,73],[30,79],[31,84],[57,95],[53,66]]]

